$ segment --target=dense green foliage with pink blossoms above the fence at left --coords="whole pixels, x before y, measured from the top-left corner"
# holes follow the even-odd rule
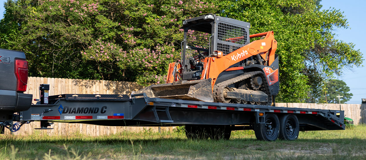
[[[198,0],[24,0],[5,3],[1,48],[21,50],[30,76],[165,81],[180,58],[183,19],[217,6]]]

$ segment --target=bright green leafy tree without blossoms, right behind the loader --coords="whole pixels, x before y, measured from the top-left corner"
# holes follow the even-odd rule
[[[217,1],[221,16],[251,23],[250,33],[273,30],[280,57],[277,102],[324,102],[324,81],[343,68],[362,64],[352,43],[334,38],[336,28],[348,28],[337,9],[321,10],[320,0]]]

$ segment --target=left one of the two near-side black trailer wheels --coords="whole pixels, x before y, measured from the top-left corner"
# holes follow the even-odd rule
[[[276,141],[280,132],[280,121],[276,114],[266,114],[265,123],[254,125],[255,137],[262,141]]]

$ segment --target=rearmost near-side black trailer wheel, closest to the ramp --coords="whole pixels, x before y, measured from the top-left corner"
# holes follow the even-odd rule
[[[281,128],[280,136],[281,140],[296,140],[299,137],[299,120],[296,115],[287,114],[280,118]]]

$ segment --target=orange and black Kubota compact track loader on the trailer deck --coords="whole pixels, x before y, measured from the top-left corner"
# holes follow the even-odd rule
[[[169,64],[165,84],[135,94],[270,105],[279,92],[277,42],[273,31],[249,35],[249,28],[250,23],[213,14],[183,20],[182,60]]]

